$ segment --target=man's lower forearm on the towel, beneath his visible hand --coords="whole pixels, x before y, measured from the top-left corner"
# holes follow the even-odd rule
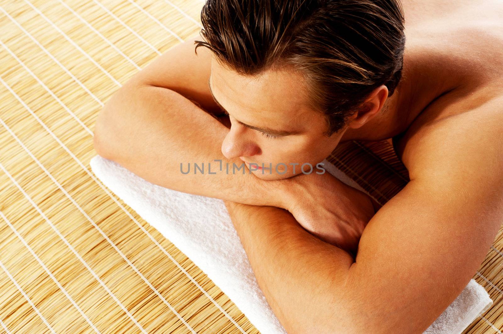
[[[286,210],[225,205],[259,286],[287,331],[341,329],[351,309],[341,304],[349,300],[343,296],[353,257],[308,233]]]

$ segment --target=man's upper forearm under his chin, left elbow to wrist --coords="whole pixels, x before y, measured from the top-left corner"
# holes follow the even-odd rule
[[[222,154],[221,143],[228,131],[177,92],[125,85],[98,117],[95,147],[100,155],[162,187],[246,204],[284,207],[289,190],[284,180],[261,180],[250,174],[239,158],[227,159]],[[199,168],[204,163],[204,174],[195,170],[195,163]],[[190,172],[183,174],[189,164]],[[233,169],[233,164],[241,169]]]

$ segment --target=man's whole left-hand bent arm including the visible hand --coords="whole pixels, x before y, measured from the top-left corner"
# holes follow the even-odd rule
[[[157,58],[112,96],[96,123],[97,152],[165,188],[287,209],[319,238],[354,249],[374,213],[366,194],[329,173],[261,180],[239,158],[225,158],[221,143],[229,129],[214,117],[220,109],[208,87],[210,51],[198,48],[195,56],[192,42]],[[195,163],[204,163],[204,174],[195,173]],[[189,174],[181,164],[184,173],[191,165]],[[345,223],[330,224],[335,215]]]

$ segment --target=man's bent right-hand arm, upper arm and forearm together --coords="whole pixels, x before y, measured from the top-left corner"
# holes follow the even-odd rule
[[[501,131],[429,132],[406,152],[412,181],[369,221],[355,260],[285,210],[225,202],[287,331],[422,333],[475,275],[503,222]]]

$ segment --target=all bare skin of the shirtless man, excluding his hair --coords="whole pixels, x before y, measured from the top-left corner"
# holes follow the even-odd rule
[[[249,18],[218,7],[231,3],[211,2],[206,30],[225,15]],[[351,2],[368,11],[383,3]],[[196,55],[199,36],[134,75],[98,118],[100,155],[154,184],[225,201],[258,283],[291,333],[423,332],[468,284],[503,222],[503,4],[402,7],[398,86],[388,97],[378,85],[331,136],[322,135],[326,119],[306,107],[299,71],[238,74],[204,46]],[[230,129],[214,117],[222,108]],[[329,173],[288,165],[262,174],[248,164],[251,173],[227,174],[213,162],[314,165],[339,142],[387,138],[410,182],[381,208]],[[181,163],[194,162],[213,162],[216,174],[181,173]]]

